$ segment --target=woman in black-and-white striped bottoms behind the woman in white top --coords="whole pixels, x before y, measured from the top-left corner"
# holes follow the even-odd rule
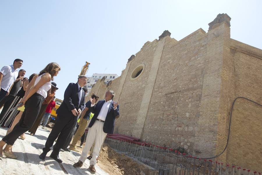
[[[10,111],[11,108],[15,107],[24,97],[25,91],[30,83],[30,81],[33,79],[33,77],[37,75],[37,74],[32,74],[28,80],[24,81],[23,83],[23,87],[20,89],[20,91],[17,92],[17,95],[15,96],[15,99],[13,100],[13,102],[11,103],[11,105],[8,107],[8,110],[6,111],[6,113],[3,115],[3,118],[0,121],[0,125],[2,127],[10,127],[12,125],[12,122],[15,118],[15,116],[17,115],[17,113],[19,113],[19,111],[17,109]]]

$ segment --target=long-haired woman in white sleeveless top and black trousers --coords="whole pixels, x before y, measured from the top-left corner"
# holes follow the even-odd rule
[[[57,76],[59,71],[60,66],[57,63],[49,63],[45,69],[40,71],[34,83],[34,87],[31,88],[21,100],[23,105],[25,105],[25,109],[20,121],[15,125],[13,131],[0,141],[0,157],[2,157],[4,153],[6,157],[13,159],[17,158],[11,150],[12,145],[21,134],[32,127],[38,116],[41,105],[47,97],[47,91],[51,89],[51,80],[53,80],[54,76]],[[3,149],[5,144],[7,145]]]

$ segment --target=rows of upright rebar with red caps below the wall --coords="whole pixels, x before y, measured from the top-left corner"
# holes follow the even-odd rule
[[[151,143],[132,142],[107,137],[105,143],[112,149],[137,159],[159,171],[159,175],[251,175],[250,170],[236,165],[180,153]],[[247,170],[247,171],[246,171]],[[253,171],[254,175],[261,173]]]

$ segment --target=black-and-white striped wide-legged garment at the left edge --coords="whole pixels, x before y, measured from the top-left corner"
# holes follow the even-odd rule
[[[10,111],[10,109],[15,107],[21,100],[21,97],[15,96],[15,99],[12,101],[11,105],[8,107],[6,113],[3,115],[3,118],[0,121],[1,126],[10,127],[12,125],[15,116],[19,113],[19,111],[17,109]]]

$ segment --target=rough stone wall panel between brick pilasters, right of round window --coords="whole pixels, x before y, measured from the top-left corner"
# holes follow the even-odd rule
[[[203,35],[199,29],[165,45],[142,134],[145,140],[191,152],[203,85]]]

